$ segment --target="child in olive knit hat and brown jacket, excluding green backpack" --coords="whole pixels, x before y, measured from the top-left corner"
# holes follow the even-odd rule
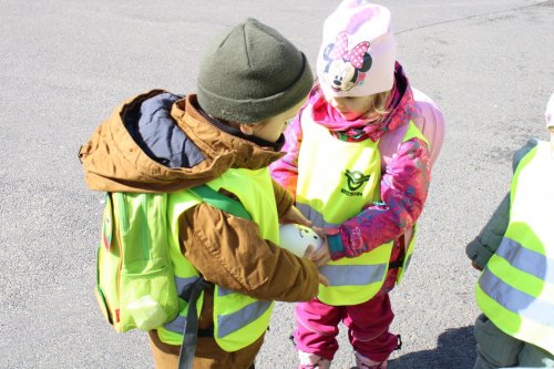
[[[273,28],[247,19],[207,48],[197,94],[137,95],[81,148],[92,189],[168,193],[175,278],[188,283],[202,276],[209,283],[199,297],[196,350],[183,341],[184,306],[191,301],[184,296],[179,315],[150,331],[156,368],[176,368],[182,342],[187,345],[182,358],[194,352],[194,368],[253,367],[271,300],[316,296],[316,266],[276,246],[279,219],[310,223],[267,168],[283,155],[286,121],[312,83],[302,52]],[[202,184],[238,199],[253,221],[193,196],[188,188]]]

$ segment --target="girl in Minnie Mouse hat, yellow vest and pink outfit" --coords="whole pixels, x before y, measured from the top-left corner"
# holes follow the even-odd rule
[[[315,255],[329,287],[296,306],[300,368],[329,368],[342,321],[359,368],[386,368],[400,347],[388,293],[412,252],[443,137],[442,114],[396,62],[390,13],[342,1],[324,25],[318,83],[287,129],[271,175],[327,244]]]

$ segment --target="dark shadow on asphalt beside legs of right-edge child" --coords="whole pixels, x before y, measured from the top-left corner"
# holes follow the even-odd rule
[[[389,369],[471,369],[475,362],[473,326],[448,329],[437,348],[403,355],[389,361]]]

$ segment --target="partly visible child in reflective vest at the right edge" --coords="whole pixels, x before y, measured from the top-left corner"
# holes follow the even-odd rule
[[[510,193],[465,249],[483,270],[474,369],[554,368],[553,115],[554,94],[545,114],[551,142],[532,139],[514,153]]]

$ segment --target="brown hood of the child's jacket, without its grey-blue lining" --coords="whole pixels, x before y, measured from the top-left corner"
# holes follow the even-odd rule
[[[81,146],[86,184],[105,192],[168,193],[205,184],[229,168],[257,170],[284,154],[234,136],[208,122],[194,107],[195,95],[172,106],[172,119],[192,140],[205,160],[192,167],[168,167],[151,158],[129,133],[123,116],[163,90],[153,90],[129,99],[95,130]]]

